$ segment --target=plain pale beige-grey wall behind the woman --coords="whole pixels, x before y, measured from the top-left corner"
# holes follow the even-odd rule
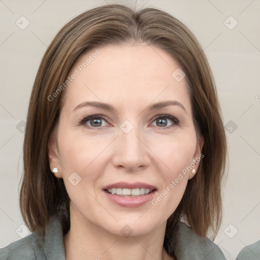
[[[226,126],[229,170],[223,189],[224,216],[214,242],[227,259],[235,259],[245,245],[260,239],[259,0],[0,0],[0,247],[26,235],[18,205],[23,121],[42,56],[61,26],[83,11],[106,3],[167,11],[190,28],[205,50],[224,124],[232,120]],[[24,19],[21,16],[29,21],[23,30],[16,25]],[[226,26],[235,25],[230,16],[238,22],[233,29]]]

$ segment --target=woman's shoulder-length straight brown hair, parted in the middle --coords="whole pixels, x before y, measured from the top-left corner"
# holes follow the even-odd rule
[[[174,255],[177,222],[185,217],[200,236],[217,234],[222,218],[221,183],[226,138],[215,82],[209,63],[192,32],[170,14],[146,8],[138,12],[122,5],[88,10],[64,25],[46,50],[32,88],[23,146],[24,173],[20,209],[31,232],[44,232],[50,216],[59,214],[63,233],[70,228],[69,196],[63,179],[50,171],[48,144],[61,109],[60,92],[77,58],[107,44],[142,42],[167,51],[181,65],[191,98],[198,137],[204,139],[204,159],[188,181],[184,196],[166,226],[164,247]]]

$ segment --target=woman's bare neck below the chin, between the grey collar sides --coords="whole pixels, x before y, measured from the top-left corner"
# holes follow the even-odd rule
[[[169,260],[163,247],[166,222],[142,236],[112,234],[71,207],[71,228],[64,235],[66,260]]]

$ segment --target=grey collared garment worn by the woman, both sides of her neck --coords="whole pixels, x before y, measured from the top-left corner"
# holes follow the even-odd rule
[[[226,260],[220,248],[206,237],[199,237],[179,222],[176,244],[177,260]],[[63,235],[59,220],[52,216],[45,237],[33,232],[0,249],[1,260],[65,260]]]

